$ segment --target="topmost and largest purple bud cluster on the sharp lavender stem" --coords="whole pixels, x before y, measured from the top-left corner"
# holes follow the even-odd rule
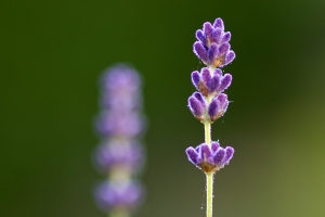
[[[213,25],[205,23],[203,30],[196,31],[196,38],[198,41],[193,44],[193,51],[207,66],[223,67],[235,59],[235,52],[229,43],[231,33],[224,33],[221,18],[217,18]]]

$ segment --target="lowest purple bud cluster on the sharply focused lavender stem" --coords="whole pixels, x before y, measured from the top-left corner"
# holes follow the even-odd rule
[[[195,149],[186,149],[188,161],[205,173],[214,173],[224,165],[229,164],[235,150],[231,146],[221,148],[218,142],[211,142],[211,145],[202,143]]]

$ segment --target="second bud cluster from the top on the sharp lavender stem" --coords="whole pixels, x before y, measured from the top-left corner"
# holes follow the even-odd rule
[[[232,75],[222,75],[222,71],[214,68],[210,71],[207,67],[195,71],[191,75],[192,82],[196,89],[205,97],[216,97],[223,92],[232,82]]]

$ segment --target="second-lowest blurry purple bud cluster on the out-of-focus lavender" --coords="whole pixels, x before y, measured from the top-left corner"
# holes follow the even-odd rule
[[[136,140],[113,140],[98,148],[95,164],[104,173],[112,168],[123,168],[132,174],[138,173],[144,163],[144,150]]]

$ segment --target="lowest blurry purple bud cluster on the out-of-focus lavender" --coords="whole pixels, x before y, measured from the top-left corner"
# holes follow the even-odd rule
[[[98,205],[105,212],[114,208],[134,209],[142,201],[143,188],[134,181],[104,181],[95,190]]]

